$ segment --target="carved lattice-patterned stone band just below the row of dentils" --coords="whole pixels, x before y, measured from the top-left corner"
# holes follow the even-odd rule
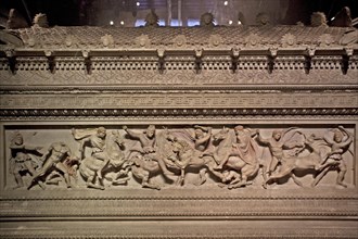
[[[316,66],[315,66],[316,67]],[[194,70],[164,70],[162,74],[157,70],[92,70],[90,74],[79,68],[73,71],[57,70],[51,73],[40,71],[0,71],[2,86],[141,86],[152,88],[156,86],[195,86],[196,88],[216,85],[342,85],[357,84],[358,71],[351,70],[343,74],[340,68],[312,70],[306,74],[304,70],[276,70],[271,74],[267,70],[250,67],[236,70],[232,73],[229,68],[201,70],[196,74]],[[151,85],[151,86],[150,86]]]

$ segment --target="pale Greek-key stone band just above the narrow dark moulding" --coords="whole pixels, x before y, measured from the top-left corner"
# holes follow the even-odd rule
[[[356,112],[356,92],[166,92],[166,93],[67,93],[67,95],[1,95],[2,110],[73,109],[100,110],[107,114],[111,109],[302,109],[302,114],[312,109],[351,109]],[[303,110],[306,109],[306,110]],[[105,110],[105,111],[104,111]],[[206,111],[207,111],[206,110]],[[298,112],[299,112],[298,111]],[[3,112],[3,111],[2,111]],[[93,112],[93,111],[92,111]],[[163,112],[163,111],[162,111]],[[265,111],[261,111],[265,114]],[[274,111],[271,111],[274,114]],[[284,112],[284,111],[283,111]],[[343,114],[345,111],[342,111]],[[74,112],[75,114],[78,114]],[[98,114],[93,112],[94,114]],[[113,112],[116,114],[116,112]],[[112,114],[113,114],[112,113]],[[124,112],[126,113],[126,112]],[[145,113],[145,112],[144,112]],[[165,113],[165,112],[164,112]],[[183,112],[184,113],[184,112]],[[203,110],[205,113],[205,110]],[[245,111],[243,112],[245,113]],[[253,112],[255,113],[255,112]],[[295,112],[292,112],[295,113]],[[325,113],[324,111],[322,112]],[[333,113],[333,112],[332,112]],[[5,114],[5,113],[3,113]],[[85,112],[86,114],[86,112]]]

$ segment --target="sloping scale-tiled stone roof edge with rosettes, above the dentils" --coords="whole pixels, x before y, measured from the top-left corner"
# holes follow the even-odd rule
[[[357,48],[357,30],[347,27],[31,27],[4,30],[18,35],[21,51],[136,50],[342,50]],[[5,34],[2,34],[5,35]],[[4,39],[5,40],[5,39]],[[11,43],[11,42],[10,42]],[[274,55],[276,52],[272,52]],[[161,54],[161,52],[158,52]]]

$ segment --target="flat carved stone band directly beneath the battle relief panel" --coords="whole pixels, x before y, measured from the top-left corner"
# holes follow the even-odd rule
[[[126,191],[126,190],[124,190]],[[213,191],[214,193],[215,191]],[[38,192],[39,193],[39,192]],[[103,193],[103,192],[102,192]],[[179,194],[180,191],[174,191]],[[220,193],[216,191],[216,193]],[[337,193],[342,193],[337,191]],[[84,194],[86,194],[84,192]],[[214,204],[213,201],[220,202]],[[117,218],[284,218],[291,217],[323,217],[338,218],[349,216],[358,218],[357,199],[342,200],[321,200],[321,199],[232,199],[210,200],[184,198],[163,199],[149,198],[148,200],[123,200],[123,199],[102,199],[102,200],[68,200],[65,198],[53,198],[51,200],[18,200],[0,201],[1,217],[117,217]],[[26,202],[26,203],[24,203]],[[9,203],[13,206],[9,207]],[[71,203],[72,206],[67,206]],[[59,211],[59,207],[62,210]],[[86,210],[84,210],[86,207]],[[212,210],[203,210],[210,207]],[[280,211],[277,210],[280,207]],[[332,211],[332,207],[335,211]],[[99,210],[100,209],[100,210]],[[162,209],[162,210],[158,210]]]

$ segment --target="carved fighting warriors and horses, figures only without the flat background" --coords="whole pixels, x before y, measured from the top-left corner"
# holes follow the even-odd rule
[[[303,172],[314,175],[310,186],[316,187],[330,171],[337,172],[338,187],[347,187],[345,158],[355,158],[354,135],[343,126],[323,130],[319,136],[286,127],[272,129],[268,137],[260,129],[242,125],[221,129],[200,125],[170,129],[156,129],[155,125],[145,129],[73,128],[71,137],[78,142],[78,151],[55,141],[43,153],[43,147],[25,143],[22,133],[15,131],[10,140],[9,171],[15,188],[27,189],[81,187],[79,179],[89,188],[105,189],[108,184],[104,183],[127,185],[132,177],[142,187],[161,189],[163,184],[151,180],[154,175],[179,187],[186,184],[188,172],[194,172],[197,186],[210,175],[218,186],[229,189],[250,187],[259,175],[264,188],[284,177],[303,186],[295,176]],[[264,150],[269,152],[266,156]]]

